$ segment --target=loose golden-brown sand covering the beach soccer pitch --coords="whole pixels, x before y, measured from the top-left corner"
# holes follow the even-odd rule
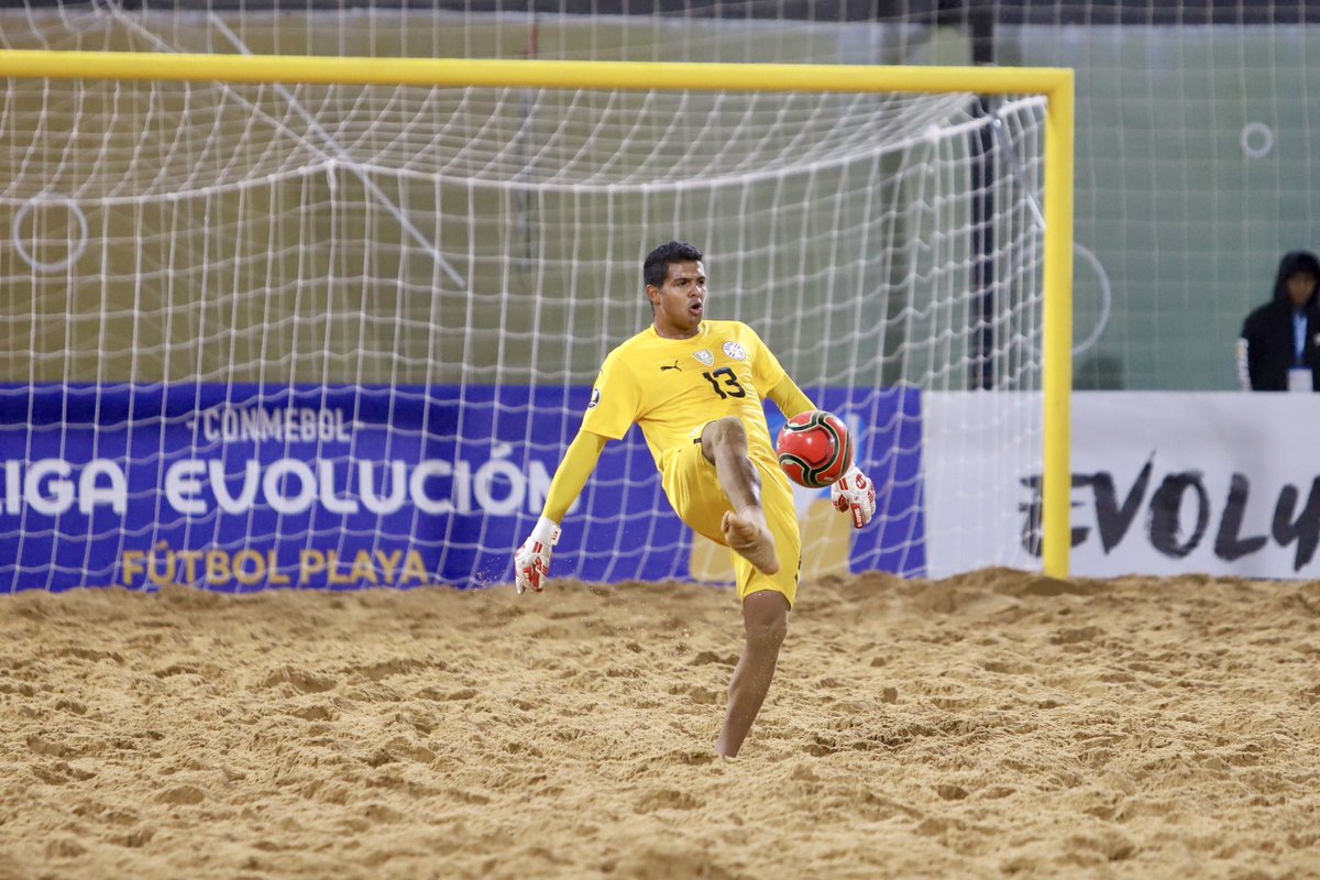
[[[1315,877],[1320,583],[0,598],[0,877]]]

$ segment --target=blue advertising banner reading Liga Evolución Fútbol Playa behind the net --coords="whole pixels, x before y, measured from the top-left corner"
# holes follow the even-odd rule
[[[0,388],[0,591],[508,582],[589,394]],[[821,405],[865,426],[859,459],[890,486],[891,515],[857,534],[853,569],[921,574],[917,393],[826,391]],[[565,520],[553,575],[682,579],[690,544],[634,429]]]

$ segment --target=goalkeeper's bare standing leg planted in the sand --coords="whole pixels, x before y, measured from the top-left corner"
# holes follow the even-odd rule
[[[742,748],[766,691],[775,677],[779,646],[788,632],[788,599],[774,590],[754,592],[743,600],[747,644],[729,682],[729,710],[715,740],[715,753],[734,757]]]

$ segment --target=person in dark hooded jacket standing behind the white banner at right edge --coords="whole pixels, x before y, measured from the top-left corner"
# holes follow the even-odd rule
[[[1254,309],[1238,339],[1238,381],[1243,391],[1320,391],[1320,260],[1290,251],[1279,260],[1274,298]]]

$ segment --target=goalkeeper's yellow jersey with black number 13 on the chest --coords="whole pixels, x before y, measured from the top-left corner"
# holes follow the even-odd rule
[[[582,417],[582,430],[622,439],[634,424],[660,467],[661,455],[693,442],[693,430],[726,416],[747,427],[747,451],[777,468],[764,398],[784,368],[741,321],[702,321],[690,339],[647,327],[606,356]]]

